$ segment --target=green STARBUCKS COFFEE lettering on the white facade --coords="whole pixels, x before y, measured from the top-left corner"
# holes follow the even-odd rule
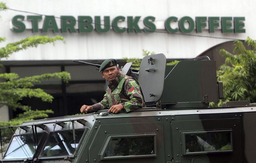
[[[32,32],[61,32],[61,33],[88,33],[94,29],[100,33],[106,33],[110,29],[113,29],[117,33],[153,33],[156,31],[156,25],[154,24],[156,18],[153,16],[147,16],[141,18],[141,16],[117,16],[114,19],[110,19],[110,16],[95,16],[92,19],[91,16],[60,16],[56,18],[54,16],[38,16],[38,15],[16,15],[12,18],[12,31],[16,33],[24,32],[26,23],[24,21],[30,21],[32,23]],[[104,23],[101,23],[101,19],[104,19]],[[39,28],[39,21],[43,21],[42,27]],[[60,22],[58,22],[60,21]],[[139,22],[143,21],[143,28],[139,27]],[[165,21],[164,27],[166,32],[177,33],[190,33],[194,30],[197,33],[202,33],[203,30],[208,30],[209,33],[214,33],[216,29],[221,29],[222,33],[245,33],[244,26],[245,17],[195,17],[194,19],[189,16],[181,18],[171,16]],[[126,27],[120,27],[121,22],[127,22]],[[60,24],[60,25],[58,25]],[[75,27],[76,26],[76,27]],[[77,27],[78,26],[78,27]]]

